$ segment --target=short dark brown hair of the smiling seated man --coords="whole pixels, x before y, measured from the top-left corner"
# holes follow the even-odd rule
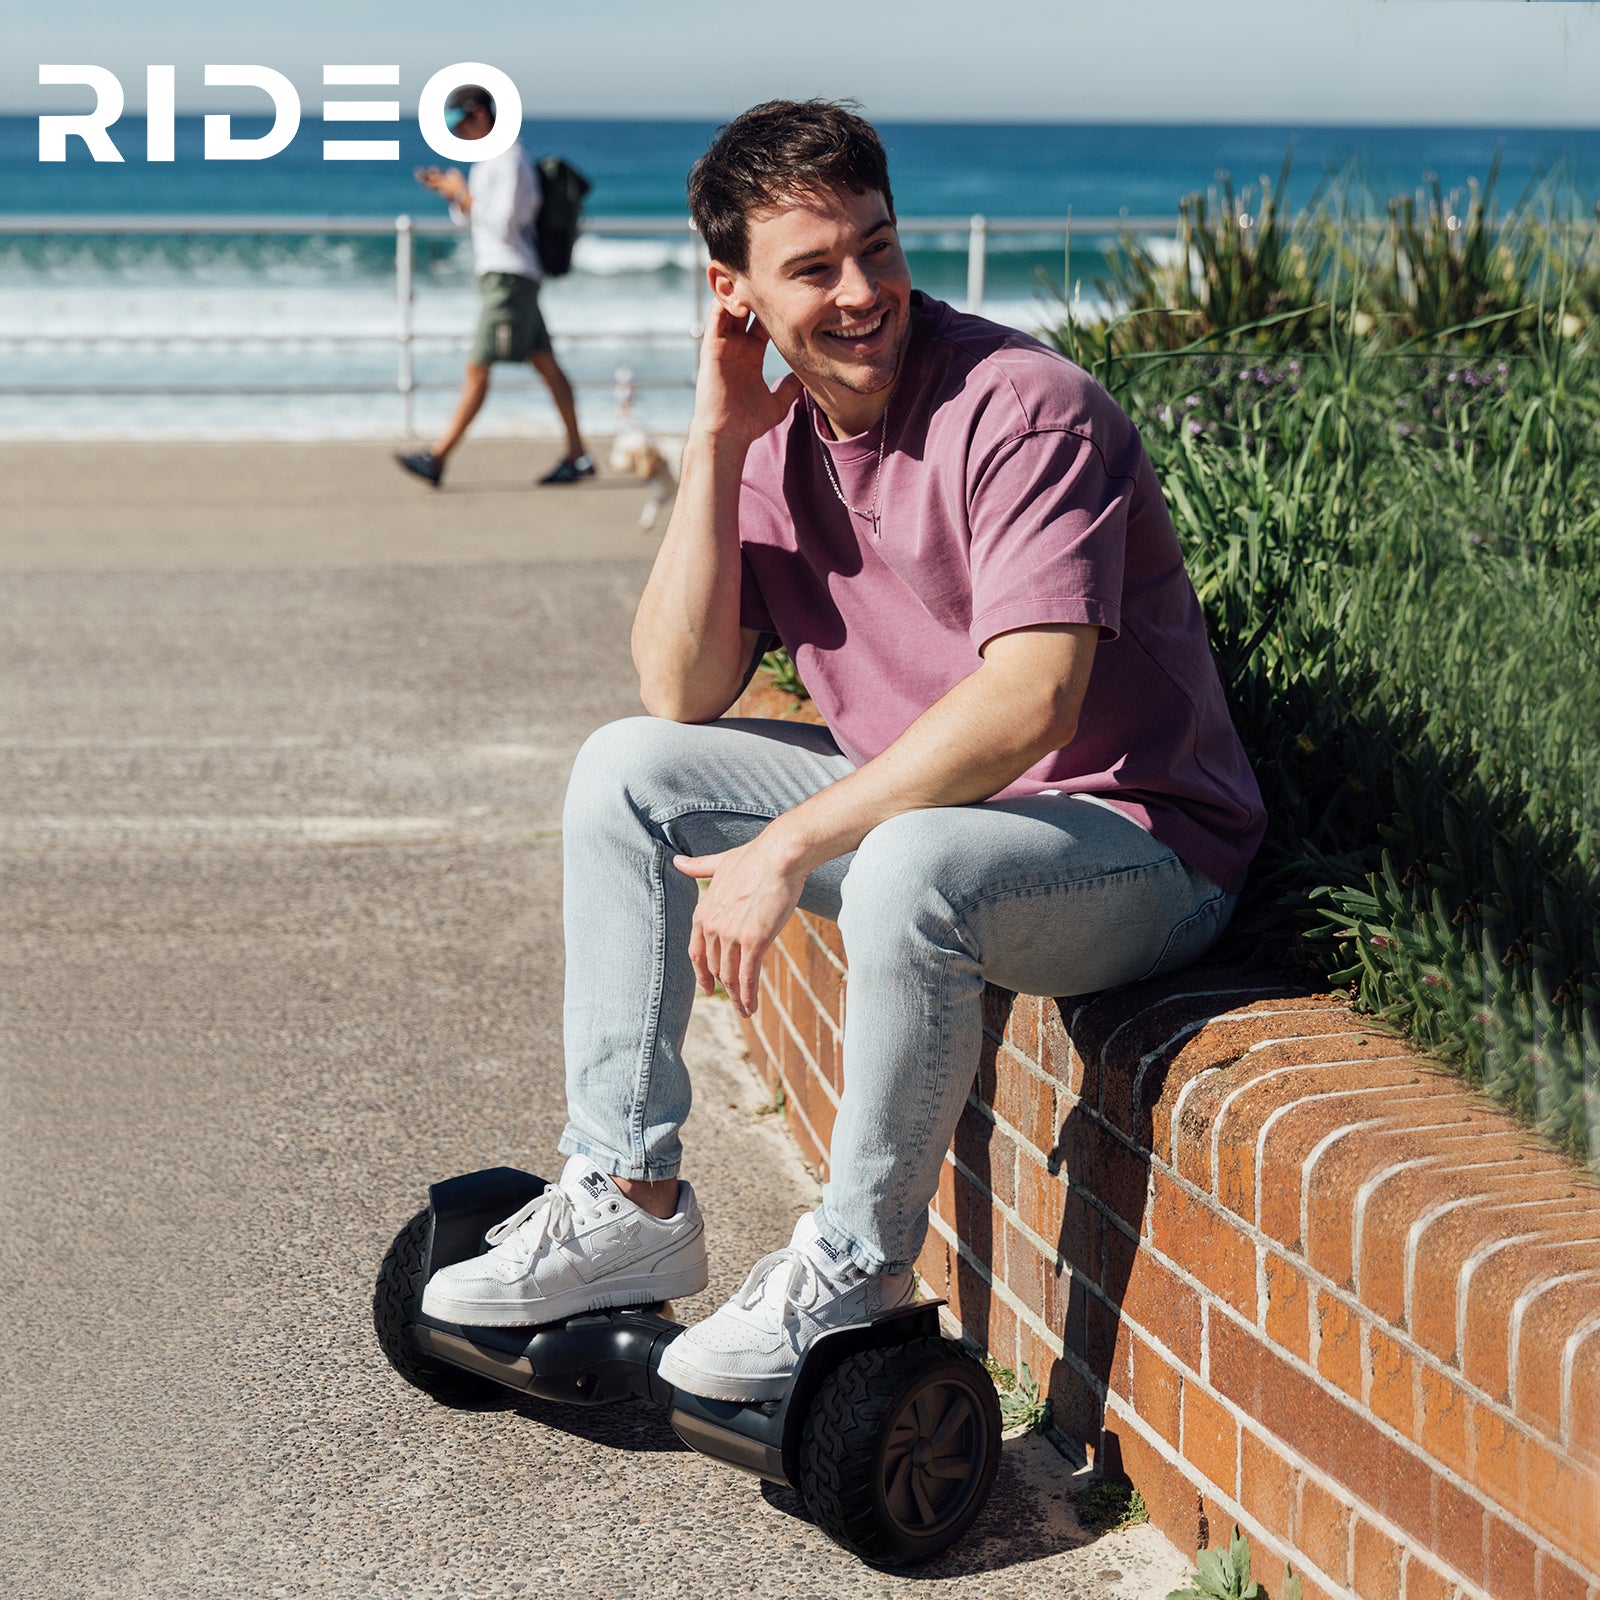
[[[712,261],[750,264],[752,211],[818,189],[877,190],[894,214],[890,163],[851,101],[763,101],[717,130],[690,171],[690,216]]]

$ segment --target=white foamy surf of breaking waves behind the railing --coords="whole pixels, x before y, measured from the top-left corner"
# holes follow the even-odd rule
[[[582,261],[542,306],[586,426],[682,432],[693,405],[696,278],[635,272],[634,240],[594,238],[611,270]],[[677,246],[674,246],[677,248]],[[693,250],[693,242],[688,242]],[[413,426],[440,429],[454,403],[478,298],[469,280],[422,278],[411,306]],[[1038,298],[990,298],[986,314],[1034,330]],[[98,283],[0,270],[0,435],[10,438],[386,438],[402,432],[400,309],[392,278]],[[616,370],[634,373],[632,413]],[[782,371],[776,358],[770,378]],[[203,390],[200,394],[155,390]],[[82,390],[82,392],[62,392]],[[363,390],[363,392],[349,392]],[[498,368],[480,434],[555,438],[544,386]]]

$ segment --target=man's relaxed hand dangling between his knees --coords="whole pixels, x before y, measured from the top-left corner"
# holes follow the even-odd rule
[[[690,934],[701,994],[720,981],[739,1016],[752,1016],[760,1002],[762,958],[800,904],[805,869],[781,859],[765,834],[715,856],[674,856],[672,864],[691,878],[710,878]]]

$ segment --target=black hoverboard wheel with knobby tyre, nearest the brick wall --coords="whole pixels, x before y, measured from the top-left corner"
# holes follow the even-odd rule
[[[829,1373],[806,1413],[806,1509],[864,1562],[931,1562],[989,1499],[1000,1430],[995,1386],[958,1344],[923,1338],[861,1350]]]

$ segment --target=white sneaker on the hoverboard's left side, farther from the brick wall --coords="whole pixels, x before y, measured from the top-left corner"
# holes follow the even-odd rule
[[[485,1235],[493,1246],[440,1267],[422,1314],[469,1328],[522,1328],[608,1306],[653,1306],[706,1288],[706,1224],[678,1182],[675,1216],[642,1211],[586,1155]]]

